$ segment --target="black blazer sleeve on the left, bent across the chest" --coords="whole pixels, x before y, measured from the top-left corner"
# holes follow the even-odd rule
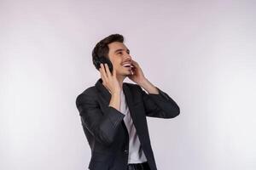
[[[96,140],[102,144],[112,144],[125,115],[112,106],[108,106],[103,113],[95,97],[84,93],[77,97],[76,106],[83,126]]]

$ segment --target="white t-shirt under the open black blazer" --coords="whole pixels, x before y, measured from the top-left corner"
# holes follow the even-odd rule
[[[144,155],[142,145],[137,136],[136,128],[132,122],[131,114],[129,108],[126,104],[125,94],[123,90],[121,90],[121,105],[120,112],[125,114],[124,122],[127,127],[129,133],[129,156],[128,163],[142,163],[147,161],[146,156]]]

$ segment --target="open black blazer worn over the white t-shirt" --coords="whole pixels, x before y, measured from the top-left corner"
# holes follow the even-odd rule
[[[179,107],[159,88],[160,94],[147,94],[137,84],[123,82],[123,90],[149,167],[156,170],[146,116],[173,118],[179,115]],[[76,99],[84,134],[90,144],[91,170],[126,170],[129,135],[123,121],[125,115],[108,106],[110,99],[111,94],[102,85],[101,78]]]

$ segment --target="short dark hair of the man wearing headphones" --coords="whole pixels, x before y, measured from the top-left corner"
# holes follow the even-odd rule
[[[100,42],[96,43],[95,48],[92,50],[92,61],[96,67],[95,60],[98,60],[101,57],[105,57],[109,59],[108,52],[108,44],[111,42],[124,42],[124,37],[120,34],[112,34],[108,37],[103,38]],[[97,69],[97,67],[96,67]],[[98,69],[97,69],[98,70]]]

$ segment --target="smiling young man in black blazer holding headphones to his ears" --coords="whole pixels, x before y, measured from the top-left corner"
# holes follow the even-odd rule
[[[76,99],[91,149],[90,170],[156,170],[146,116],[173,118],[178,105],[148,81],[122,35],[98,42],[92,52],[95,65],[99,57],[111,61],[113,72],[101,64],[101,78]],[[125,77],[135,83],[124,82]]]

